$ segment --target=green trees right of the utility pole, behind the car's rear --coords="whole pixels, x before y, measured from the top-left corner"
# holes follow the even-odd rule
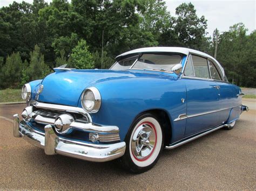
[[[256,87],[256,31],[249,36],[242,23],[230,27],[219,37],[217,59],[225,68],[230,82]]]

